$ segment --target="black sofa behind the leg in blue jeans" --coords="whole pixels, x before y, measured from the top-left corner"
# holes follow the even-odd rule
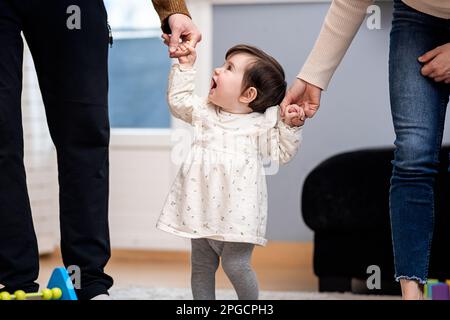
[[[393,148],[333,156],[306,178],[302,214],[314,231],[319,291],[399,294],[389,218]],[[430,278],[450,279],[450,146],[443,147],[436,182]],[[367,267],[381,270],[381,289],[368,290]]]

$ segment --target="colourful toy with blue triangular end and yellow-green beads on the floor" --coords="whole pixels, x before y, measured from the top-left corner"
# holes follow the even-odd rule
[[[27,299],[78,300],[69,274],[67,273],[66,268],[63,267],[53,270],[50,280],[48,281],[47,289],[40,292],[25,293],[25,291],[22,290],[18,290],[14,292],[14,294],[10,294],[6,291],[0,292],[0,300]]]

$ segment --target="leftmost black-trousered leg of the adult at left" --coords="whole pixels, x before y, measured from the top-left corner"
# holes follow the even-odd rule
[[[37,290],[39,273],[23,164],[21,24],[18,1],[0,0],[0,283],[8,292]]]

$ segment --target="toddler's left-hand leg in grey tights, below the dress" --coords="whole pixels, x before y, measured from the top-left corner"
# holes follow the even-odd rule
[[[219,255],[208,239],[192,239],[191,288],[194,300],[216,299],[216,271]]]

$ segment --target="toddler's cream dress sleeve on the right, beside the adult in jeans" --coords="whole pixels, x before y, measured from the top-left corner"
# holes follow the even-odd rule
[[[302,127],[290,127],[280,117],[278,106],[266,110],[259,134],[261,156],[286,164],[297,154]]]

